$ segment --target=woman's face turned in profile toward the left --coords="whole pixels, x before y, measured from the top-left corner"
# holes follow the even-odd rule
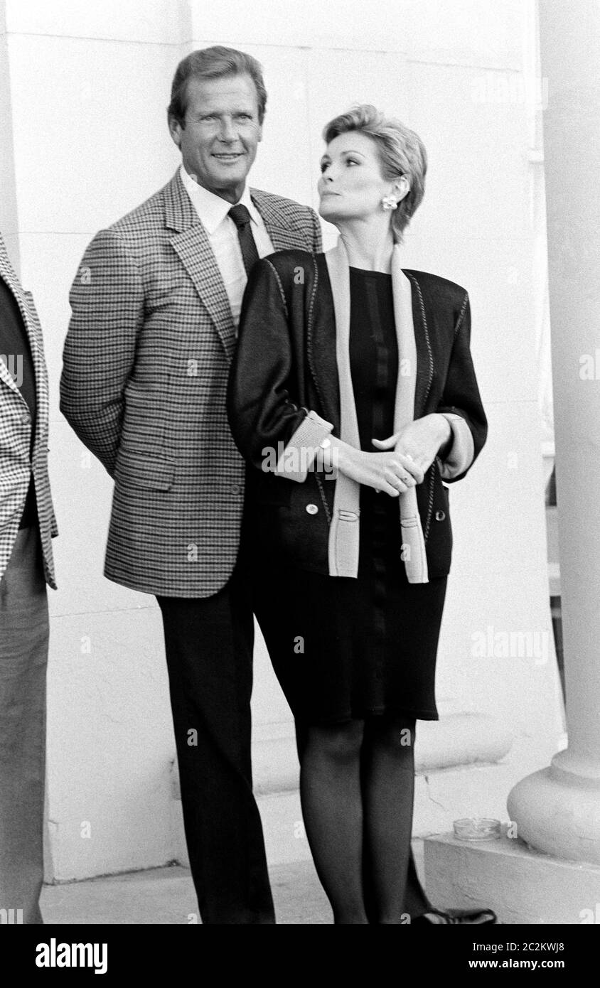
[[[330,223],[365,219],[382,211],[382,199],[393,187],[394,183],[382,175],[373,138],[359,130],[348,130],[329,142],[321,158],[318,211]]]

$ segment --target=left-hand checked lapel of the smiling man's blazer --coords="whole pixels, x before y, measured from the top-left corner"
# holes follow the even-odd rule
[[[165,225],[173,230],[171,244],[213,319],[225,354],[235,349],[235,326],[227,292],[214,260],[207,231],[192,205],[179,172],[165,191]]]

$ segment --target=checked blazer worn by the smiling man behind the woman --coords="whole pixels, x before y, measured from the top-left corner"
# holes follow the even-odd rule
[[[312,209],[251,190],[275,250],[320,250]],[[115,480],[105,575],[210,597],[239,545],[245,464],[227,423],[235,327],[179,173],[86,250],[73,286],[60,408]]]

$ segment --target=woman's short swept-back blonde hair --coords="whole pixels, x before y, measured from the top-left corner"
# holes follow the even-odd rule
[[[334,137],[349,130],[360,130],[376,142],[385,179],[393,181],[403,175],[408,180],[410,190],[393,210],[391,218],[395,239],[401,240],[402,231],[420,206],[425,193],[427,152],[423,141],[414,130],[386,117],[370,103],[361,103],[348,113],[335,117],[324,127],[323,139],[328,144]]]

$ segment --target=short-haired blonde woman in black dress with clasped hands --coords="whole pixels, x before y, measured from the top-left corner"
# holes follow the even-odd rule
[[[434,910],[410,851],[417,719],[437,719],[447,483],[486,420],[469,297],[401,267],[425,149],[360,106],[324,130],[327,254],[254,267],[229,379],[249,462],[255,612],[297,722],[300,796],[338,924],[489,923]]]

